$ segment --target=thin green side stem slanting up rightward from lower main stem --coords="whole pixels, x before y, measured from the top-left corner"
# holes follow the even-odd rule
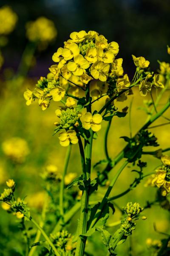
[[[103,207],[105,206],[105,203],[107,202],[108,200],[108,196],[110,195],[111,193],[111,190],[113,189],[113,186],[114,184],[116,183],[116,180],[118,179],[119,175],[121,174],[121,172],[123,171],[123,169],[125,168],[125,166],[127,166],[128,164],[128,161],[125,161],[125,163],[123,163],[123,165],[120,167],[120,169],[118,170],[118,172],[116,173],[116,175],[113,177],[113,180],[111,181],[111,184],[110,186],[108,187],[106,193],[105,193],[105,196],[104,198],[102,199],[102,202],[100,203],[99,205],[99,208],[97,209],[96,211],[96,214],[94,216],[94,220],[91,222],[91,226],[90,228],[94,227],[94,225],[96,224],[96,222],[98,221],[101,213],[102,213],[102,210],[103,210]]]

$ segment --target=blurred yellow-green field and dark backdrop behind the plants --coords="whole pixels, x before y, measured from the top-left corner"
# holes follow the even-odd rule
[[[28,204],[36,213],[41,212],[44,201],[40,172],[49,164],[56,165],[62,171],[65,148],[59,145],[57,136],[52,137],[56,105],[51,104],[46,111],[42,111],[37,103],[28,107],[23,98],[24,91],[27,87],[32,89],[40,76],[47,75],[48,67],[53,64],[51,59],[53,53],[62,46],[63,41],[66,41],[73,31],[95,30],[105,35],[108,41],[118,42],[118,56],[123,58],[123,68],[130,78],[133,77],[135,70],[131,54],[144,56],[150,61],[152,70],[156,71],[159,68],[157,60],[166,62],[170,60],[170,55],[167,55],[167,44],[170,45],[170,3],[169,0],[30,0],[28,2],[1,0],[0,7],[4,5],[11,7],[17,14],[18,20],[14,30],[5,35],[6,39],[1,40],[0,46],[4,59],[0,70],[0,191],[5,187],[6,180],[13,178],[17,183],[17,196],[23,198],[27,195]],[[57,37],[44,49],[33,46],[26,38],[26,23],[41,16],[52,20],[57,28]],[[3,44],[4,40],[6,42]],[[33,49],[32,55],[29,54],[28,49]],[[21,68],[21,64],[25,65],[24,69]],[[126,102],[117,103],[117,106],[122,109],[128,106],[132,99],[134,135],[146,119],[144,111],[139,109],[143,105],[143,98],[134,91]],[[161,103],[165,103],[164,99]],[[170,114],[166,115],[170,117]],[[128,118],[128,115],[124,119],[115,117],[112,123],[109,133],[111,157],[114,157],[125,145],[119,137],[129,136]],[[156,124],[163,121],[160,120]],[[103,122],[103,129],[105,126]],[[159,137],[158,148],[170,146],[168,125],[152,131]],[[8,151],[17,151],[17,149],[20,151],[20,148],[25,148],[26,157],[19,162],[11,160],[3,150],[4,142],[11,141],[13,137],[19,137],[27,143],[23,145],[20,142],[15,145],[12,140],[8,146]],[[101,147],[103,142],[102,130],[99,132],[99,139],[94,143],[92,164],[105,158],[104,149]],[[160,161],[153,157],[143,157],[142,160],[148,160],[146,173],[160,164]],[[79,174],[81,172],[79,166],[79,152],[76,145],[71,153],[68,171]],[[102,167],[97,170],[102,170]],[[92,174],[94,177],[97,170],[95,169]],[[128,188],[133,181],[135,174],[130,171],[130,168],[124,170],[116,183],[113,195]],[[114,172],[111,172],[110,177]],[[100,194],[104,192],[105,188],[99,191]],[[147,200],[153,201],[154,197],[155,189],[145,188],[142,182],[128,195],[116,200],[116,204],[123,207],[128,201],[138,201],[145,205]],[[118,247],[118,255],[150,255],[146,239],[164,237],[154,231],[153,222],[156,222],[161,232],[166,233],[169,230],[169,215],[164,209],[154,206],[152,209],[147,209],[144,214],[147,220],[137,223],[132,238]],[[119,210],[116,210],[110,222],[119,220],[120,215]],[[0,255],[22,255],[22,238],[16,217],[8,215],[3,209],[0,209],[0,216]],[[75,216],[73,224],[69,227],[71,232],[75,231],[78,216],[78,214]],[[115,230],[116,227],[113,227],[109,231],[113,233]],[[94,245],[90,240],[88,250],[93,251],[94,256],[106,254],[98,238],[93,240]],[[131,252],[129,246],[132,248]]]

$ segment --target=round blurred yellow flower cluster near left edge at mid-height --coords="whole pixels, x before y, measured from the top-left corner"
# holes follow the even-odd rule
[[[16,163],[23,163],[26,156],[29,154],[29,148],[26,140],[18,137],[5,140],[2,143],[2,149],[6,156]]]

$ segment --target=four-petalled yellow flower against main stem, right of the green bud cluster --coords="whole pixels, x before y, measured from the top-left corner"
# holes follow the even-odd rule
[[[102,116],[100,114],[92,114],[90,112],[85,113],[82,116],[82,126],[86,130],[91,128],[92,131],[99,131],[101,129]]]

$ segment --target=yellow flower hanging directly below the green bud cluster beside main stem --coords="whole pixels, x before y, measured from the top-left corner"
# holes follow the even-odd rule
[[[59,138],[59,143],[63,147],[67,147],[70,143],[72,143],[72,144],[78,143],[77,134],[74,130],[61,131],[59,133],[58,138]]]

